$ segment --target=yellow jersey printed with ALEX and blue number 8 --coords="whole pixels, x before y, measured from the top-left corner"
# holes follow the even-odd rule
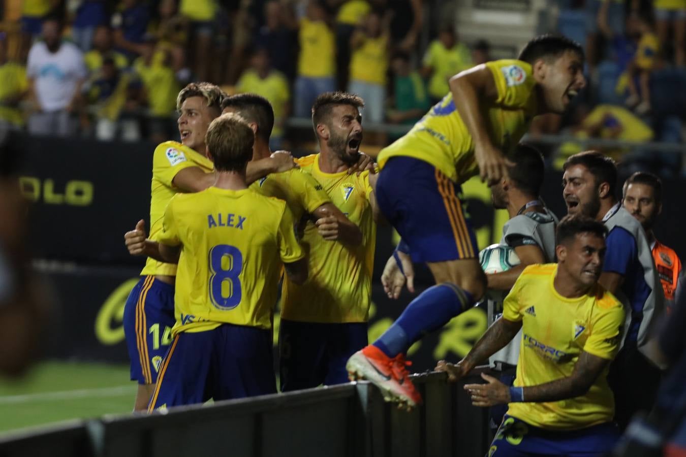
[[[250,189],[177,194],[158,241],[181,245],[172,334],[272,327],[283,262],[305,256],[285,201]]]

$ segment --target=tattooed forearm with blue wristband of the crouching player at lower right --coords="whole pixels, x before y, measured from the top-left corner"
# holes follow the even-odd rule
[[[610,360],[582,351],[571,375],[545,384],[528,387],[510,387],[495,378],[482,375],[487,384],[466,384],[474,406],[493,406],[510,402],[557,402],[579,397],[589,391]],[[512,398],[512,391],[517,397]]]

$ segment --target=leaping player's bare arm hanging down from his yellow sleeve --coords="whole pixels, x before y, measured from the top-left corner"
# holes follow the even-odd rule
[[[455,108],[474,140],[474,156],[479,164],[481,179],[494,184],[506,175],[512,162],[491,142],[484,116],[479,109],[480,99],[495,101],[498,98],[493,73],[490,73],[486,65],[477,65],[451,77],[449,84]]]

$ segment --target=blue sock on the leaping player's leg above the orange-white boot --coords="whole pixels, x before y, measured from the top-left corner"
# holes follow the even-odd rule
[[[456,284],[436,284],[412,300],[397,321],[372,344],[389,357],[405,354],[412,343],[441,328],[473,304],[471,294]]]

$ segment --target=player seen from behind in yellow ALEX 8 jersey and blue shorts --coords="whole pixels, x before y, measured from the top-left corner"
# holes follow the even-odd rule
[[[175,195],[158,243],[146,243],[147,254],[178,259],[173,341],[149,411],[276,393],[272,306],[281,265],[303,282],[307,262],[285,201],[248,188],[254,138],[237,114],[212,121],[213,186]]]

